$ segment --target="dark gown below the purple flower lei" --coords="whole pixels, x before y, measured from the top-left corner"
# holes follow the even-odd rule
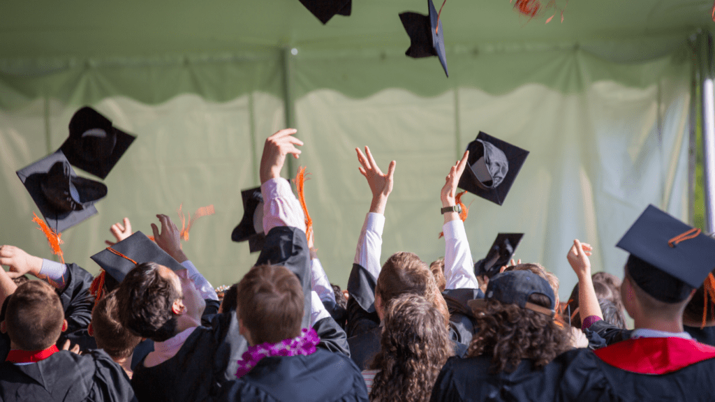
[[[227,383],[222,402],[369,401],[360,370],[340,353],[318,349],[309,356],[263,358]]]

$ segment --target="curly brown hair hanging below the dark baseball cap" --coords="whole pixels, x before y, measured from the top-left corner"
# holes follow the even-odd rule
[[[546,296],[536,293],[528,301],[546,308],[551,305]],[[498,300],[486,300],[476,314],[475,328],[479,332],[469,345],[468,356],[491,356],[491,373],[511,373],[522,359],[541,368],[571,348],[568,328],[553,318]]]

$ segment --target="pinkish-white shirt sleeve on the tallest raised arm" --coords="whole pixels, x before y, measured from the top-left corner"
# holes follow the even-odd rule
[[[263,195],[263,232],[277,226],[297,227],[305,232],[305,214],[300,202],[290,188],[290,182],[281,177],[261,185]]]

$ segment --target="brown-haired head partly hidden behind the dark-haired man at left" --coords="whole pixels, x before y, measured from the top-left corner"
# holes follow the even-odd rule
[[[140,336],[124,328],[117,313],[117,290],[104,296],[92,310],[92,330],[97,348],[103,349],[115,360],[132,356],[134,348],[142,341]]]

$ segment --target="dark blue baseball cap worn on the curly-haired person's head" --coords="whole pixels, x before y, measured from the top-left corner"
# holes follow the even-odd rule
[[[534,293],[546,296],[550,301],[550,307],[546,308],[530,303],[528,301],[529,296]],[[546,279],[531,271],[508,271],[494,275],[494,278],[489,280],[484,298],[470,300],[468,305],[473,310],[478,310],[483,307],[488,299],[498,300],[501,303],[516,304],[521,308],[528,308],[551,317],[555,314],[556,297],[553,295],[551,285],[548,284]]]

